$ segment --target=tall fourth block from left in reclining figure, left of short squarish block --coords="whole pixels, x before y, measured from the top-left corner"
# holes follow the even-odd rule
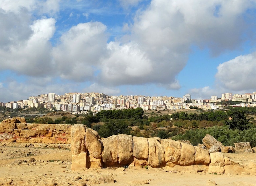
[[[118,135],[118,161],[120,165],[130,164],[133,161],[133,140],[131,135]]]

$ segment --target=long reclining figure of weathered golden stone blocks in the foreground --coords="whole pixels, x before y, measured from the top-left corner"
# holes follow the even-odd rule
[[[192,169],[196,172],[256,174],[256,162],[247,164],[209,150],[171,139],[119,134],[100,138],[82,124],[71,129],[72,170],[106,167]]]

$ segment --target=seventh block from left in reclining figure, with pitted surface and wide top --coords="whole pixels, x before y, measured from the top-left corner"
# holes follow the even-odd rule
[[[161,144],[164,147],[164,159],[166,165],[169,167],[180,165],[181,143],[171,139],[162,139]]]

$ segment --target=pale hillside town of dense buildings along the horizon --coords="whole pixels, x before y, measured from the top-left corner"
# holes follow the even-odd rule
[[[227,102],[236,103],[233,107],[254,107],[256,106],[256,92],[244,94],[223,93],[219,98],[215,95],[210,99],[191,99],[190,94],[179,97],[149,97],[149,96],[108,96],[103,93],[55,93],[31,96],[27,100],[0,102],[0,106],[13,109],[22,108],[46,108],[48,110],[61,110],[74,114],[83,114],[88,111],[97,113],[101,110],[114,109],[135,109],[143,110],[180,110],[180,109],[223,109]]]

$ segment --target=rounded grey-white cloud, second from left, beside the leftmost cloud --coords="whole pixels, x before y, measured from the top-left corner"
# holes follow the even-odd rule
[[[53,48],[57,71],[64,79],[88,81],[105,53],[106,26],[100,22],[80,23],[60,38]]]

